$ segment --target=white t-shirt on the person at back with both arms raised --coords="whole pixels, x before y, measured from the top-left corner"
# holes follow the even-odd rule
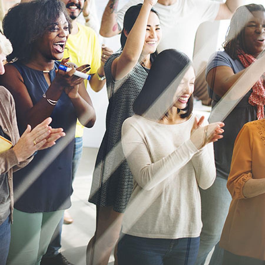
[[[118,11],[117,21],[123,28],[123,18],[130,6],[143,3],[143,0],[131,0]],[[158,52],[165,49],[177,49],[192,59],[194,40],[197,29],[202,22],[216,18],[220,2],[211,0],[177,0],[175,4],[154,5],[158,12],[162,29],[162,38]]]

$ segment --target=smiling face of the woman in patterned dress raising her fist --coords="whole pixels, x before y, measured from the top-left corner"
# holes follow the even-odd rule
[[[150,12],[147,21],[143,54],[154,53],[161,39],[161,36],[162,32],[160,29],[160,21],[158,19],[158,16],[154,12]]]

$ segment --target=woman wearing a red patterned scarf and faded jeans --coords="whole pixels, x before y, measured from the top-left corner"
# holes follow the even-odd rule
[[[230,93],[233,92],[231,87],[245,73],[250,73],[247,72],[248,69],[250,69],[252,63],[256,62],[264,48],[264,7],[256,4],[239,7],[231,19],[224,43],[224,51],[214,54],[206,69],[208,92],[213,99],[212,111],[214,111],[215,106],[219,107],[219,104],[221,106],[222,100],[226,100],[225,95],[228,91]],[[263,56],[262,60],[264,61],[264,59],[265,57]],[[264,72],[264,63],[261,64],[261,67],[263,67]],[[253,74],[249,74],[249,79],[251,79]],[[238,132],[246,122],[264,117],[264,81],[262,78],[252,81],[252,84],[254,83],[253,87],[251,85],[244,87],[244,85],[246,86],[244,84],[239,87],[240,89],[237,89],[246,91],[246,94],[242,94],[241,100],[240,96],[238,96],[240,93],[234,90],[233,97],[239,98],[239,102],[230,113],[227,109],[222,110],[228,116],[223,121],[225,123],[223,139],[214,143],[216,180],[211,188],[206,191],[201,190],[203,229],[196,265],[204,264],[208,253],[214,246],[216,247],[210,265],[222,264],[222,252],[218,248],[217,243],[220,240],[223,224],[231,202],[231,195],[226,188],[226,182],[230,170],[234,142]],[[227,108],[227,105],[224,104],[223,106]],[[221,117],[215,118],[217,120],[221,119]]]

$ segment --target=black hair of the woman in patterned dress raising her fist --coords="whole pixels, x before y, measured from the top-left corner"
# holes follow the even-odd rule
[[[124,31],[126,31],[129,34],[129,32],[131,31],[131,29],[132,29],[132,27],[133,27],[138,15],[139,15],[139,13],[140,13],[142,5],[143,4],[138,4],[138,5],[135,5],[135,6],[131,6],[125,12],[124,19],[123,19],[123,29],[122,29],[121,36],[120,36],[120,44],[121,44],[122,49],[124,48],[125,42],[127,40],[127,37],[125,36]],[[152,8],[151,12],[155,13],[158,16],[158,19],[159,19],[159,15],[155,11],[155,9]],[[157,55],[157,51],[155,51],[154,53],[152,53],[150,55],[151,62],[153,62],[153,60],[155,59],[156,55]]]

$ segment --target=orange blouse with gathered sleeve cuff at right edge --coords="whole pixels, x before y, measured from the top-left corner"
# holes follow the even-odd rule
[[[236,138],[227,182],[232,202],[220,240],[233,254],[265,260],[265,193],[244,198],[250,178],[265,178],[265,119],[245,124]]]

